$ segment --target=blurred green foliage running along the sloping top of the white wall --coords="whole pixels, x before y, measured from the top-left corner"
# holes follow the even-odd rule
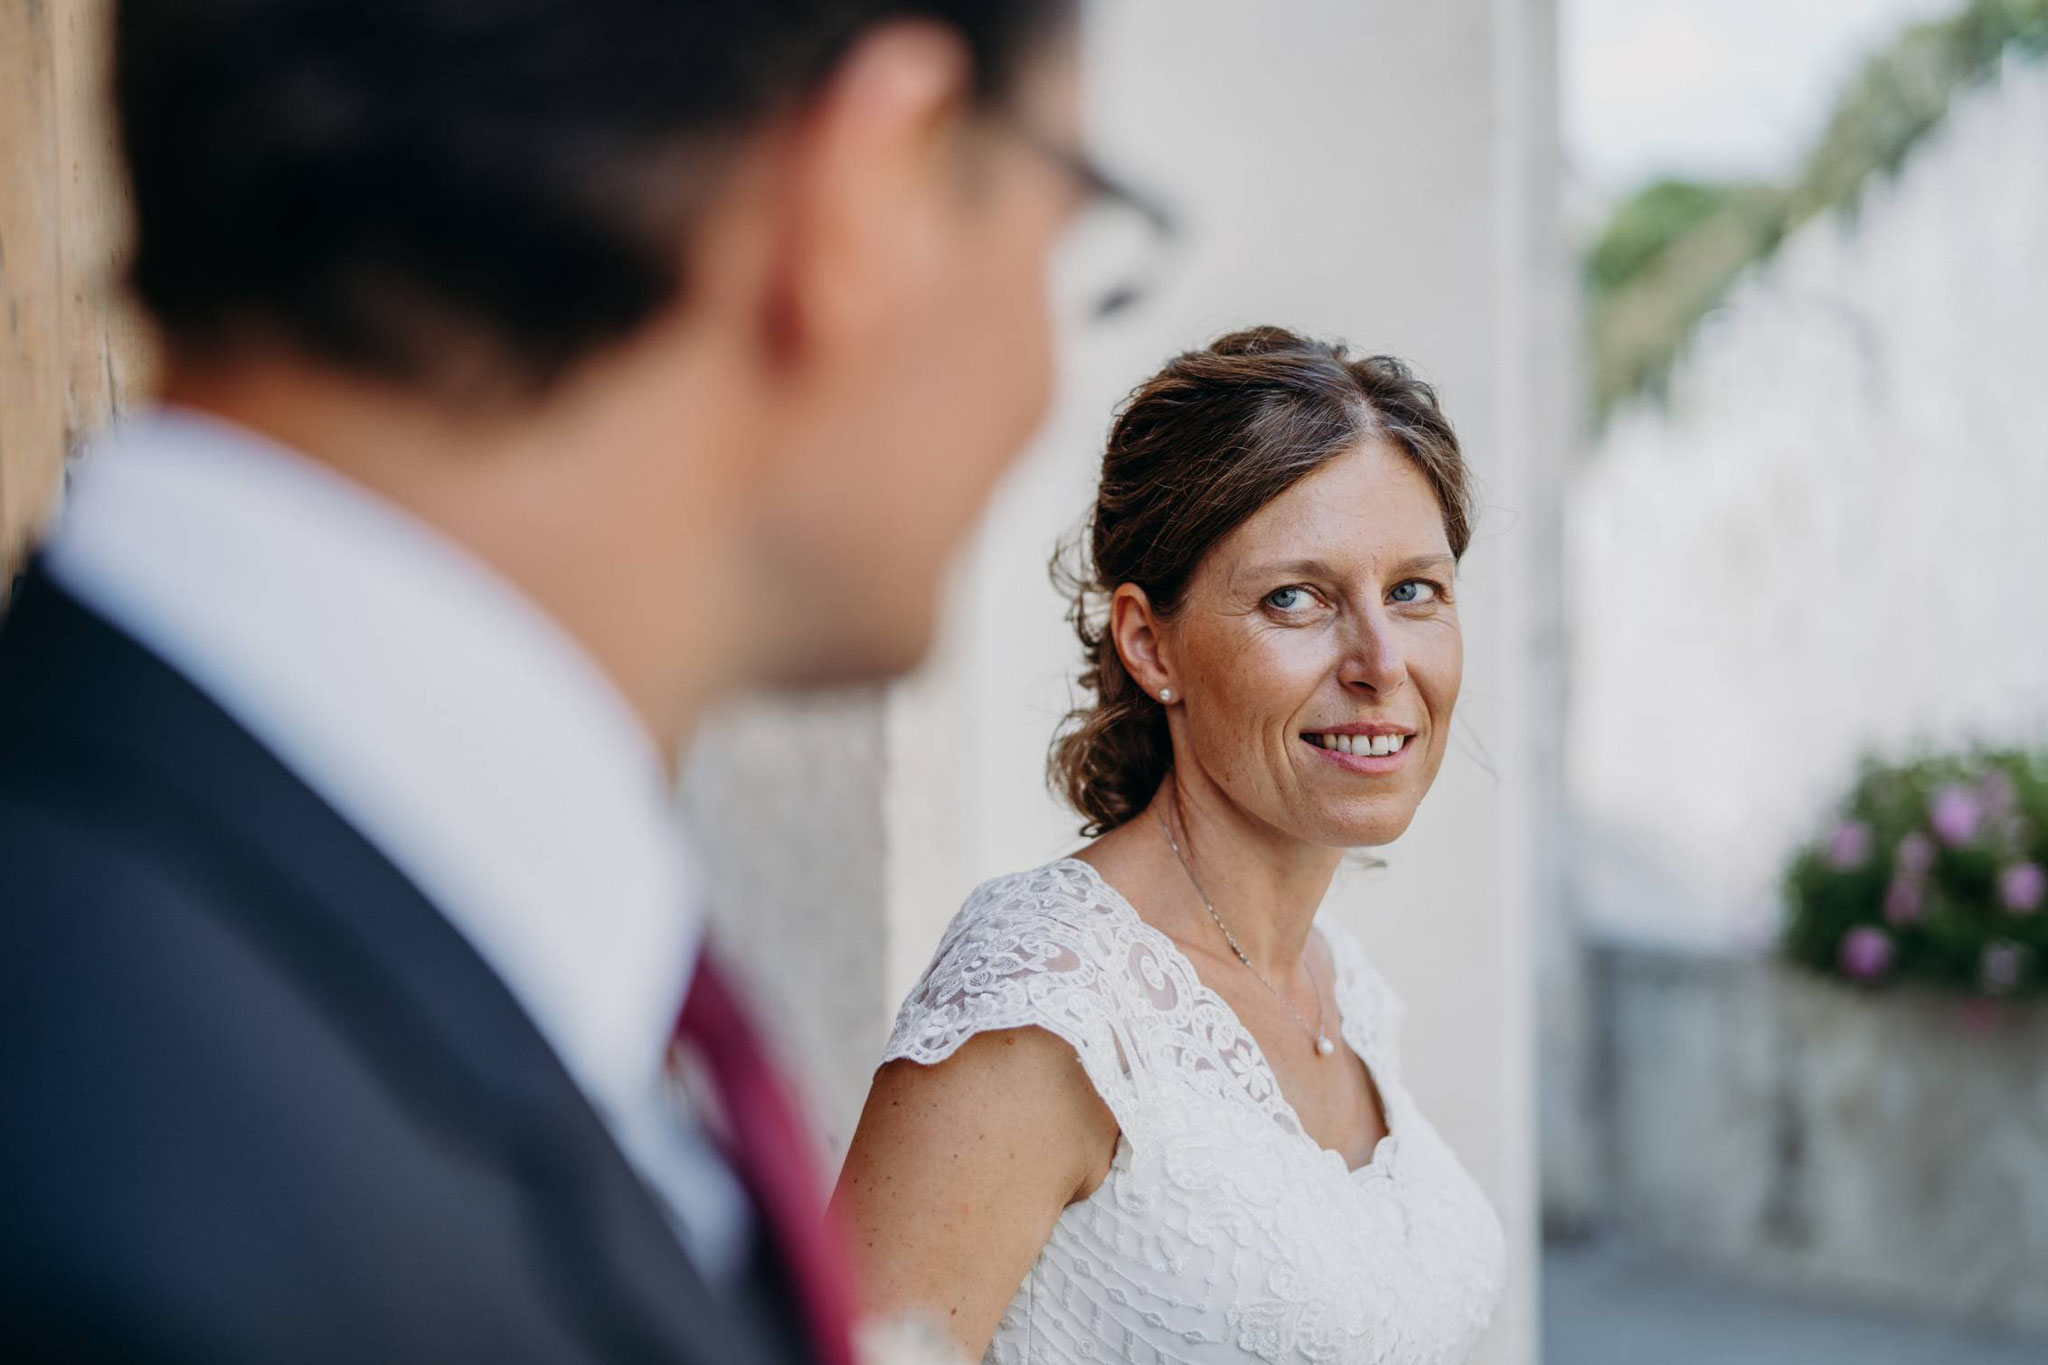
[[[1896,172],[2007,51],[2048,55],[2048,0],[1970,0],[1903,33],[1841,92],[1792,184],[1659,180],[1622,203],[1585,256],[1597,409],[1655,391],[1745,270],[1800,223],[1851,209],[1872,176]]]

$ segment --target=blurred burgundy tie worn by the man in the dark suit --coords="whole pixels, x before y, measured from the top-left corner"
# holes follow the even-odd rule
[[[725,974],[698,954],[674,1046],[694,1056],[725,1113],[725,1154],[788,1271],[819,1365],[854,1365],[854,1293],[823,1181],[788,1087]]]

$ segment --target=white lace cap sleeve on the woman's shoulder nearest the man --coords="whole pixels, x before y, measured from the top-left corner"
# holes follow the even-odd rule
[[[975,1033],[1040,1027],[1081,1058],[1118,1128],[1137,1136],[1139,1103],[1126,978],[1100,907],[1063,894],[1061,878],[1024,874],[969,896],[924,978],[897,1011],[883,1062],[946,1060]]]

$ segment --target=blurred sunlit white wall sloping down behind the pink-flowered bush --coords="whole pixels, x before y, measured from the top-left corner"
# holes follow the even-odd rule
[[[1608,925],[1761,939],[1860,753],[2048,722],[2048,70],[1800,229],[1571,495],[1571,784]]]

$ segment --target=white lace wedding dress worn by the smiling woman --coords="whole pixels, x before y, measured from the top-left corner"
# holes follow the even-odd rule
[[[1094,868],[1067,857],[969,896],[887,1056],[932,1064],[1036,1025],[1073,1044],[1122,1128],[987,1365],[1466,1359],[1501,1289],[1499,1220],[1401,1083],[1399,1001],[1356,939],[1317,927],[1343,1040],[1386,1111],[1358,1171],[1300,1128],[1231,1007]]]

